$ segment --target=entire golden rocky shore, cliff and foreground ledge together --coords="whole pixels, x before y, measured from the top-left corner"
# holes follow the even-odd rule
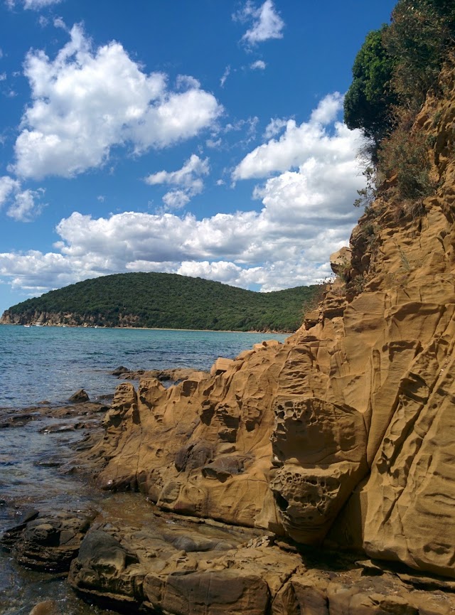
[[[287,341],[210,373],[121,367],[106,412],[83,400],[1,417],[84,429],[67,478],[113,498],[29,502],[1,539],[11,557],[126,613],[455,614],[451,66],[440,90],[411,129],[434,193],[403,202],[387,178]]]

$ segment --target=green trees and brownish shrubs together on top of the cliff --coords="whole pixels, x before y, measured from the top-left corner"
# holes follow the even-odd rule
[[[360,152],[366,187],[355,205],[368,206],[386,178],[405,200],[434,193],[432,143],[413,126],[427,93],[438,94],[454,46],[454,0],[398,0],[390,24],[366,36],[344,102],[346,124],[367,139]]]

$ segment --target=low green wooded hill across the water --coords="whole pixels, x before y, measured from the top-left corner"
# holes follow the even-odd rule
[[[107,275],[27,299],[3,322],[97,326],[295,331],[320,286],[259,293],[166,273]]]

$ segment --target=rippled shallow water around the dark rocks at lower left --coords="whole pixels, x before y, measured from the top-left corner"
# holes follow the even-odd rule
[[[63,421],[63,419],[60,419]],[[59,464],[65,464],[74,451],[81,432],[40,432],[55,419],[40,419],[23,427],[2,429],[0,453],[0,533],[18,522],[29,508],[40,511],[103,510],[109,505],[109,494],[94,493],[87,481],[63,474]],[[68,424],[68,419],[65,419]],[[128,494],[131,501],[141,500],[139,494]],[[127,508],[134,510],[132,504]],[[25,569],[0,550],[0,614],[28,615],[41,601],[55,601],[62,615],[107,615],[105,611],[86,604],[72,592],[62,574],[43,574]]]

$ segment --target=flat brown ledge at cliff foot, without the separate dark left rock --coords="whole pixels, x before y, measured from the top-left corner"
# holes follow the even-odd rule
[[[440,580],[444,587],[439,587],[427,577],[403,573],[400,578],[373,562],[355,565],[336,554],[326,554],[326,561],[322,554],[316,563],[314,552],[305,557],[271,536],[235,545],[234,529],[218,530],[217,537],[211,528],[210,538],[204,538],[201,530],[207,527],[195,528],[182,530],[170,520],[167,533],[157,533],[95,523],[73,560],[70,585],[121,611],[150,614],[449,615],[455,610],[452,582]]]

